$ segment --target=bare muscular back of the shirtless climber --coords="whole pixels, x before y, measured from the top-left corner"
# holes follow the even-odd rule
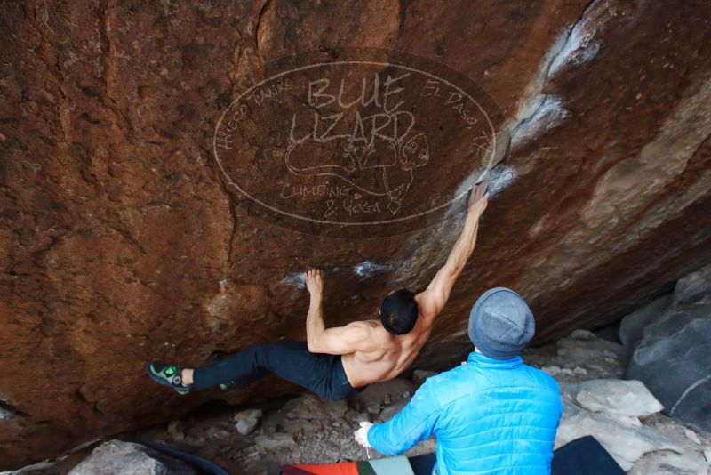
[[[415,297],[419,308],[423,307],[419,294]],[[427,308],[427,306],[425,306]],[[354,388],[361,388],[373,382],[391,380],[403,373],[417,358],[419,350],[425,346],[432,333],[432,322],[436,315],[422,315],[419,312],[415,327],[407,334],[395,335],[388,332],[379,320],[365,320],[346,326],[359,327],[363,340],[359,350],[343,355],[343,369],[348,382]],[[363,332],[363,330],[365,330]]]

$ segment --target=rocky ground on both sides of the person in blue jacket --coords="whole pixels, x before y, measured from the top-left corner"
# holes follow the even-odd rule
[[[599,335],[611,334],[603,331]],[[663,415],[661,405],[643,384],[630,386],[620,379],[629,355],[619,342],[577,330],[555,344],[526,350],[524,359],[553,375],[561,385],[565,415],[556,447],[592,434],[628,473],[708,475],[711,435]],[[353,431],[358,423],[389,419],[432,374],[417,370],[411,379],[372,385],[348,401],[326,401],[306,394],[241,410],[213,407],[124,439],[164,442],[236,474],[276,475],[285,463],[380,457],[373,451],[366,454],[356,445]],[[430,439],[407,455],[434,449],[435,439]],[[148,463],[145,457],[134,458]],[[68,465],[76,462],[59,463],[43,472],[67,473],[71,470]],[[85,471],[86,467],[76,471],[79,468],[74,469],[75,474],[91,472]]]

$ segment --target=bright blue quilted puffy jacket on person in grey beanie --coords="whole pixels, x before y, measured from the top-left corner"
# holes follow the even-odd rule
[[[427,379],[410,403],[368,431],[383,455],[437,437],[438,475],[550,473],[563,414],[555,380],[523,364],[471,353],[467,365]]]

